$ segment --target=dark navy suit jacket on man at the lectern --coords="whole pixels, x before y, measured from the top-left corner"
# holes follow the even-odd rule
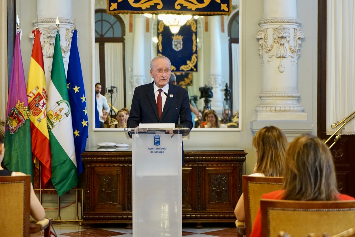
[[[191,130],[192,117],[187,90],[169,82],[168,94],[173,95],[173,97],[168,96],[166,98],[162,117],[159,119],[153,83],[154,81],[136,87],[132,98],[130,117],[127,119],[127,128],[136,128],[140,123],[174,123],[176,125],[180,113],[181,124]],[[162,93],[162,96],[165,95]],[[182,165],[184,164],[184,144],[182,144]]]

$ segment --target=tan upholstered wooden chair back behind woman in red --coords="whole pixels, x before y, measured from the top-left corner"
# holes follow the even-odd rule
[[[308,233],[335,235],[355,226],[355,201],[290,201],[261,199],[262,236],[282,230],[292,237]]]

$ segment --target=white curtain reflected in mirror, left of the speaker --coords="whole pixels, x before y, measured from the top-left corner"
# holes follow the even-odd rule
[[[117,93],[113,94],[113,107],[118,110],[124,107],[122,46],[122,43],[105,43],[106,87],[116,86]],[[108,101],[111,103],[111,98]]]

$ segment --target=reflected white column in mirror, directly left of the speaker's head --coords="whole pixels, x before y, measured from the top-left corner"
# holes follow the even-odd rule
[[[143,85],[145,82],[144,77],[144,30],[146,26],[145,16],[136,14],[133,17],[133,63],[132,63],[132,78],[131,85],[132,91],[137,86]]]

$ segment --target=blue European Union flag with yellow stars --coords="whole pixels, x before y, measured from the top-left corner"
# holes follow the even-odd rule
[[[88,137],[89,123],[77,38],[77,30],[75,29],[73,32],[73,38],[70,47],[67,84],[70,106],[72,108],[71,120],[73,124],[76,167],[78,169],[79,175],[82,171],[84,171],[84,165],[81,161],[80,154],[85,150],[86,140]]]

